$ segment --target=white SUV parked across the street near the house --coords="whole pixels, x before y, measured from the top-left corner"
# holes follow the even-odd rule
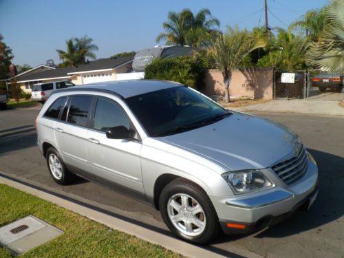
[[[31,98],[32,100],[44,103],[55,89],[64,89],[72,86],[74,86],[74,83],[71,83],[69,80],[37,83],[32,87]]]

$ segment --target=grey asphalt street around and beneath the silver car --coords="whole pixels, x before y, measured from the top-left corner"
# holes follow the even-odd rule
[[[69,200],[129,222],[171,234],[154,208],[92,182],[59,186],[50,177],[36,147],[38,108],[0,111],[0,172]],[[256,113],[281,122],[299,134],[319,166],[320,191],[310,211],[252,235],[221,235],[211,246],[218,254],[240,257],[233,248],[264,257],[344,257],[344,118],[305,114]],[[230,136],[228,136],[230,137]]]

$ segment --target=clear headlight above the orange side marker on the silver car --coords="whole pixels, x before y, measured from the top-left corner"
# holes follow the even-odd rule
[[[247,193],[272,186],[268,178],[257,170],[227,172],[222,176],[235,193]]]

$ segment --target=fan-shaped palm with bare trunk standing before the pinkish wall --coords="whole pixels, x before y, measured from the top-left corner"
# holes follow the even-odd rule
[[[225,34],[218,34],[215,40],[208,47],[210,56],[215,60],[215,66],[224,76],[224,87],[226,103],[230,102],[229,85],[232,80],[232,72],[239,63],[259,47],[265,47],[266,41],[261,37],[256,38],[247,30],[228,27]]]

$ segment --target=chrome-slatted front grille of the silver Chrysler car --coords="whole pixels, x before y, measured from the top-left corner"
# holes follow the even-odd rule
[[[294,184],[302,178],[307,170],[308,158],[305,148],[301,145],[299,147],[299,154],[294,155],[272,166],[272,170],[281,178],[281,180],[288,184]]]

